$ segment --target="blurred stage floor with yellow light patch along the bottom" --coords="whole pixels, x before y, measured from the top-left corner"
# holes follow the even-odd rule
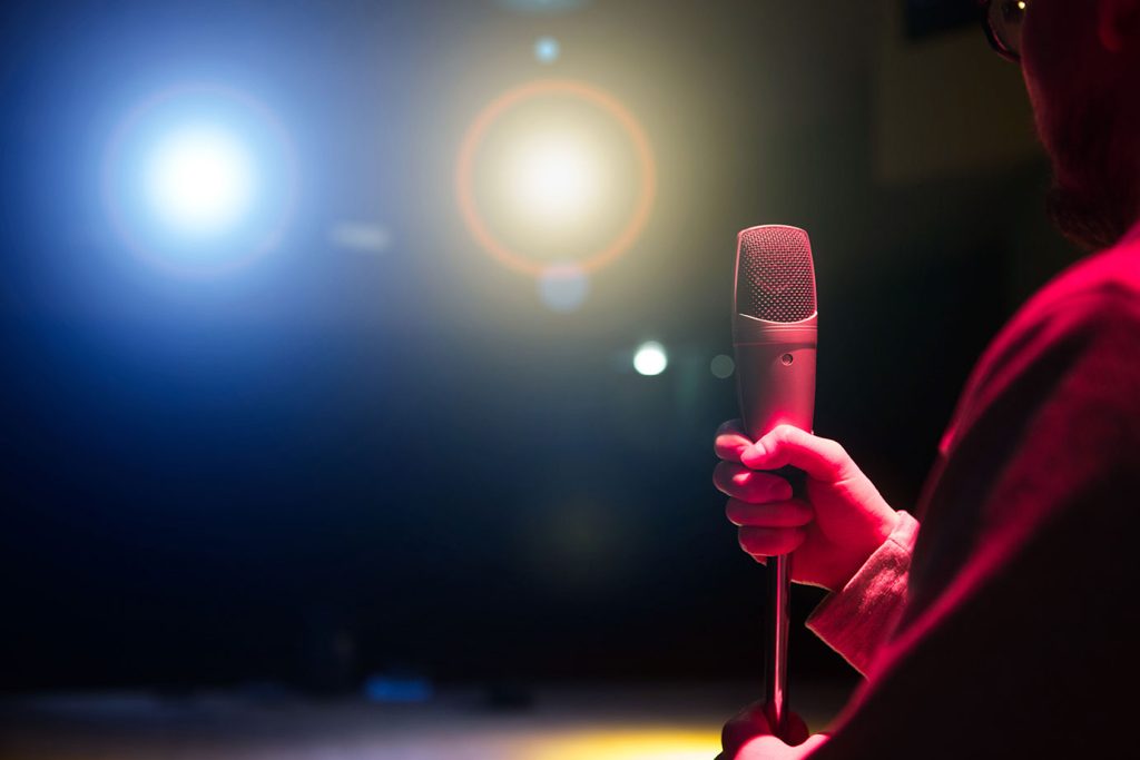
[[[0,703],[3,760],[709,760],[755,685],[559,687],[417,703],[314,701],[250,689],[43,694]],[[797,685],[813,730],[847,689]],[[504,706],[496,703],[506,703]],[[529,703],[529,704],[528,704]]]

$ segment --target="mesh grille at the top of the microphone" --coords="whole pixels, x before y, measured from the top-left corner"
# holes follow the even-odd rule
[[[815,268],[807,232],[784,224],[742,231],[736,248],[736,313],[798,322],[815,312]]]

